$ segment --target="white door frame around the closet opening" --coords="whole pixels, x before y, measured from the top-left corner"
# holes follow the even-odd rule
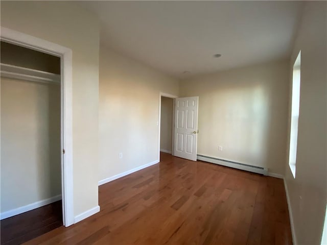
[[[1,27],[0,39],[32,50],[60,57],[61,67],[61,190],[63,225],[74,224],[73,192],[73,76],[70,48],[37,37]]]

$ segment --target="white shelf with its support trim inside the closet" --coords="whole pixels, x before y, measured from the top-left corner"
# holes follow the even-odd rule
[[[55,83],[60,85],[60,75],[58,74],[16,65],[0,63],[0,74],[5,78],[14,78],[39,83]]]

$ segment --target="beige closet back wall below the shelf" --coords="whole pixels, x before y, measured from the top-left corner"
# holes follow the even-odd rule
[[[1,78],[1,212],[61,194],[60,86]]]

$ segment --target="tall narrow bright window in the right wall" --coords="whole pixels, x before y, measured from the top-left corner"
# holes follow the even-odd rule
[[[290,135],[290,155],[289,165],[295,178],[296,149],[297,149],[297,128],[300,109],[300,80],[301,80],[301,51],[293,66],[292,80],[292,109],[291,109],[291,135]]]

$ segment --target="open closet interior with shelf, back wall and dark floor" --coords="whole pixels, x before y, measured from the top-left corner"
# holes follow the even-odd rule
[[[63,225],[61,58],[1,41],[1,243]]]

